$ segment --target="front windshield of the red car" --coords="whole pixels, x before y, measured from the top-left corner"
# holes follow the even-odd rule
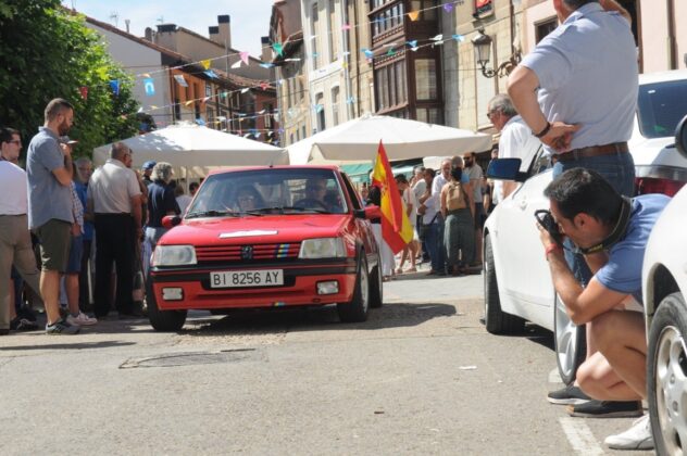
[[[347,212],[333,170],[265,168],[208,177],[186,217]]]

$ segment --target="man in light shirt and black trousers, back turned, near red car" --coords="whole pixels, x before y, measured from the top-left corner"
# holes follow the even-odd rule
[[[88,186],[88,207],[96,224],[95,313],[102,318],[110,312],[110,276],[116,264],[115,307],[120,317],[140,316],[134,307],[135,243],[141,238],[141,191],[138,178],[126,166],[132,150],[115,142],[110,159],[96,169]]]

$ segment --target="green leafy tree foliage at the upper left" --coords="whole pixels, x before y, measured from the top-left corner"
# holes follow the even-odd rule
[[[120,80],[115,94],[110,80]],[[24,143],[43,124],[53,98],[74,104],[76,155],[136,134],[133,80],[112,61],[102,38],[59,0],[0,0],[0,125]],[[87,87],[87,97],[80,88]]]

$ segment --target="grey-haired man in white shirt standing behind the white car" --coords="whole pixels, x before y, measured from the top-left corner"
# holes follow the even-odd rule
[[[527,170],[532,157],[541,142],[535,138],[525,124],[525,121],[517,114],[511,98],[504,93],[499,93],[489,100],[487,105],[487,117],[491,121],[494,128],[501,132],[499,139],[499,159],[521,159],[521,170]],[[503,201],[517,188],[517,182],[512,180],[494,182],[494,200],[496,203]]]

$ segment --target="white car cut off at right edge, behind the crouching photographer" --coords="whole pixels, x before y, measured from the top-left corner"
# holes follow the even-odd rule
[[[687,157],[687,117],[675,143]],[[657,453],[687,451],[687,187],[665,207],[651,231],[642,268],[649,343],[648,395]]]

